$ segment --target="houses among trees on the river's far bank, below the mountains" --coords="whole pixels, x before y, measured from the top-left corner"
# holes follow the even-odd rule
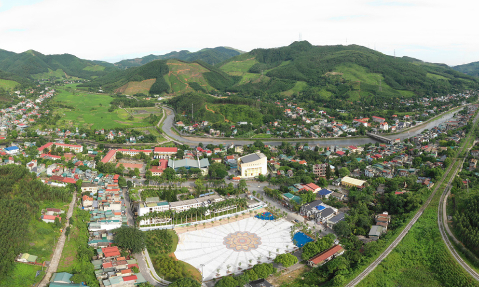
[[[417,101],[401,100],[399,104],[404,107],[414,107],[408,109],[403,115],[392,114],[387,118],[378,115],[362,117],[354,119],[341,116],[351,111],[336,110],[335,116],[328,115],[327,111],[314,109],[307,110],[297,104],[284,99],[284,102],[276,102],[275,104],[284,109],[286,119],[301,119],[300,124],[297,122],[290,123],[287,120],[271,122],[268,125],[257,127],[255,134],[265,134],[271,138],[336,138],[336,137],[352,137],[364,136],[366,132],[372,133],[395,133],[405,129],[413,128],[421,125],[423,122],[435,118],[436,116],[447,112],[456,106],[466,105],[466,100],[476,95],[476,91],[467,91],[460,94],[451,94],[440,97],[424,97]],[[389,105],[385,104],[385,109]],[[181,133],[204,135],[207,137],[233,137],[241,138],[239,131],[244,125],[252,125],[246,121],[241,121],[231,125],[230,131],[220,131],[210,128],[211,123],[176,122],[175,126]]]

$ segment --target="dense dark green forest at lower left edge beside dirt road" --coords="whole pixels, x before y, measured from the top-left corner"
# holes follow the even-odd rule
[[[40,201],[67,201],[69,192],[51,188],[24,166],[0,167],[0,276],[13,269],[15,257],[25,252],[31,239],[27,230],[38,220]]]

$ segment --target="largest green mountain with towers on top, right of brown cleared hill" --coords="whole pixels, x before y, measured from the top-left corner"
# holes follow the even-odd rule
[[[385,101],[451,93],[479,87],[479,79],[444,64],[396,58],[358,45],[313,46],[307,41],[287,47],[254,49],[217,65],[240,81],[229,92]]]

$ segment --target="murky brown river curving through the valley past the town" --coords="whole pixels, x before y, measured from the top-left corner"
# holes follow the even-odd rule
[[[174,120],[175,120],[175,112],[169,108],[169,107],[165,107],[163,106],[162,107],[164,110],[167,110],[170,112],[170,115],[167,116],[167,118],[165,119],[164,121],[164,124],[163,124],[163,132],[168,135],[169,138],[171,139],[174,139],[176,140],[175,142],[181,142],[181,143],[187,143],[187,144],[190,144],[190,145],[196,145],[198,143],[214,143],[214,144],[220,144],[220,143],[235,143],[235,144],[250,144],[250,143],[253,143],[253,141],[248,141],[248,140],[240,140],[240,139],[231,139],[231,138],[194,138],[194,137],[182,137],[182,136],[178,136],[176,133],[174,133],[171,129],[173,128],[173,125],[174,125]],[[461,108],[463,109],[463,108]],[[458,109],[457,111],[455,112],[458,112],[460,111],[461,109]],[[395,139],[401,139],[401,140],[404,140],[404,139],[407,139],[409,137],[413,137],[413,136],[416,136],[418,134],[420,134],[422,131],[426,130],[426,129],[431,129],[433,127],[436,127],[438,126],[439,124],[451,119],[453,117],[453,115],[455,114],[454,113],[449,113],[446,112],[446,113],[449,113],[449,114],[446,114],[442,117],[440,117],[439,119],[436,119],[434,121],[431,121],[431,122],[427,122],[427,124],[425,124],[424,126],[422,126],[420,129],[418,129],[417,131],[414,131],[414,132],[404,132],[404,133],[401,133],[401,134],[396,134],[396,135],[387,135],[385,134],[384,136],[386,137],[391,137],[391,138],[395,138]],[[160,121],[161,122],[161,121]],[[268,143],[268,144],[272,144],[272,145],[279,145],[281,144],[281,139],[278,139],[278,140],[273,140],[273,141],[266,141],[264,139],[260,139],[263,143]],[[288,141],[289,143],[296,143],[294,141]],[[348,146],[348,145],[358,145],[358,144],[366,144],[366,143],[379,143],[379,141],[376,141],[375,139],[372,139],[372,138],[338,138],[338,139],[312,139],[310,141],[298,141],[298,143],[308,143],[310,145],[312,144],[320,144],[320,145],[323,145],[323,146],[329,146],[329,145],[339,145],[339,146]]]

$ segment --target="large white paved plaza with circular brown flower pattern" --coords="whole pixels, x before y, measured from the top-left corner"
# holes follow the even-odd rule
[[[258,256],[261,262],[267,259],[268,251],[271,258],[286,250],[293,250],[293,243],[289,235],[292,224],[285,220],[267,221],[254,217],[237,222],[218,225],[208,229],[199,229],[179,234],[180,240],[175,255],[201,271],[204,264],[204,280],[216,278],[217,269],[220,275],[227,275],[227,266],[231,272],[238,272],[238,263],[241,268],[257,264]],[[286,248],[288,246],[288,248]]]

